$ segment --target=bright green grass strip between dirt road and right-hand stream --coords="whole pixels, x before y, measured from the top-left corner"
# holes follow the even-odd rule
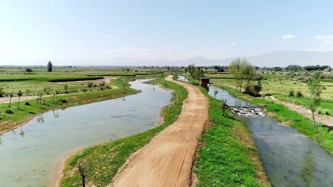
[[[261,177],[264,179],[257,178],[256,168],[263,171],[263,167],[251,132],[229,111],[222,116],[221,102],[209,96],[205,89],[201,90],[209,99],[210,128],[199,138],[203,146],[198,148],[193,167],[198,178],[196,186],[270,186],[266,175]],[[242,134],[237,135],[234,142],[236,128],[238,134]],[[256,161],[251,157],[256,157]]]

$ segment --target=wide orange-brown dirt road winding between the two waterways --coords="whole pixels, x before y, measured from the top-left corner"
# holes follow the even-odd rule
[[[166,80],[171,80],[169,75]],[[197,136],[208,120],[208,99],[199,88],[172,81],[188,91],[178,119],[131,155],[109,187],[188,186]]]

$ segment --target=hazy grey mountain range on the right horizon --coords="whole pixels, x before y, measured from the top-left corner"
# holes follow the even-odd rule
[[[233,58],[224,58],[220,60],[207,59],[202,56],[188,58],[185,60],[160,62],[156,65],[168,66],[187,66],[188,64],[195,63],[198,66],[208,65],[228,65]],[[333,51],[316,52],[316,51],[273,51],[270,53],[256,55],[256,56],[242,56],[256,66],[281,66],[285,67],[289,64],[297,65],[331,65],[333,66]]]

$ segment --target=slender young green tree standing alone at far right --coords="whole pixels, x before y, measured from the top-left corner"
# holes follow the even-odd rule
[[[320,81],[318,80],[318,77],[314,75],[313,79],[309,81],[308,87],[310,90],[310,102],[308,103],[308,108],[310,109],[312,113],[312,121],[313,125],[315,124],[314,122],[314,113],[316,112],[320,101],[321,101],[321,84]]]

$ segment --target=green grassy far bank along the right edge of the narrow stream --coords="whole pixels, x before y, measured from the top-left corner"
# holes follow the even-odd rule
[[[228,91],[230,95],[248,101],[250,103],[259,105],[262,104],[262,100],[260,98],[251,97],[246,94],[236,93],[236,90],[222,85],[214,85],[216,87],[225,89]],[[298,114],[297,112],[289,110],[287,107],[281,104],[275,103],[273,105],[270,104],[270,101],[263,100],[263,104],[265,104],[265,109],[268,111],[271,117],[274,117],[278,121],[283,124],[289,125],[292,128],[295,128],[302,132],[304,135],[316,140],[324,149],[333,154],[333,132],[329,132],[327,127],[322,127],[316,122],[316,125],[312,124],[312,120]]]

